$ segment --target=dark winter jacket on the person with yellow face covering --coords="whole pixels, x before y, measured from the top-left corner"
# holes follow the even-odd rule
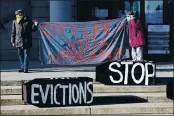
[[[35,31],[37,26],[27,16],[24,16],[19,24],[15,20],[12,24],[11,43],[14,43],[15,47],[32,47],[32,32]]]

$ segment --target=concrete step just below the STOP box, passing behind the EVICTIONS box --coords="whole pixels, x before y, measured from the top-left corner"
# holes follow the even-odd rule
[[[93,85],[94,93],[157,93],[166,92],[166,85],[154,86],[108,86],[103,84]],[[22,86],[1,86],[1,95],[21,95]]]

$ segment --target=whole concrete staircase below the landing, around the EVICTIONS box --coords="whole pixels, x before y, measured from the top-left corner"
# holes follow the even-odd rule
[[[166,97],[166,83],[173,80],[172,70],[157,67],[157,84],[152,86],[109,86],[94,81],[91,106],[38,108],[22,101],[21,80],[1,80],[3,115],[72,114],[173,114],[173,100]],[[173,68],[172,68],[173,69]],[[71,72],[73,73],[73,71]],[[95,73],[95,72],[94,72]]]

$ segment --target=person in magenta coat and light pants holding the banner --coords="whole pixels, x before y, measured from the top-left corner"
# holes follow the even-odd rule
[[[141,20],[132,11],[127,13],[129,44],[133,61],[143,60],[143,48],[145,45]]]

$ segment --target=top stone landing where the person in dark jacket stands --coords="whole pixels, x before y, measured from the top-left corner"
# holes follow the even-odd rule
[[[156,76],[158,78],[173,77],[172,63],[157,63]],[[31,80],[34,78],[56,77],[91,77],[95,79],[95,66],[58,66],[41,65],[37,61],[30,62],[29,73],[18,73],[18,61],[1,61],[1,80]]]

